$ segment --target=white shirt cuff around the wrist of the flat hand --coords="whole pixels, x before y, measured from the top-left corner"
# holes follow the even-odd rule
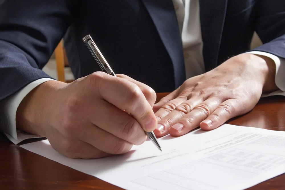
[[[285,96],[285,59],[279,58],[270,53],[260,52],[260,51],[246,52],[246,54],[256,54],[256,55],[269,57],[274,61],[276,65],[275,83],[280,90],[274,91],[272,93],[264,93],[262,94],[262,97],[273,96],[273,95]]]

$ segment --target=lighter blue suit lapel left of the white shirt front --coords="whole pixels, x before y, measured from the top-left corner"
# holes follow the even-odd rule
[[[175,86],[186,79],[183,48],[172,0],[141,0],[164,44],[174,69]]]

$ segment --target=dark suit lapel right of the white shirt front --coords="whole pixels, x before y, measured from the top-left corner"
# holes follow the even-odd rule
[[[206,71],[217,66],[227,0],[200,0],[203,57]]]

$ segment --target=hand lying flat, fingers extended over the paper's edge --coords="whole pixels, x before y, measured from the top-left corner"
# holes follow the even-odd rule
[[[241,54],[186,80],[154,105],[154,134],[181,136],[199,126],[212,130],[249,112],[262,93],[278,90],[275,67],[268,57]]]

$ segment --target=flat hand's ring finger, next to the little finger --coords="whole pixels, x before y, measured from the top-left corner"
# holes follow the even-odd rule
[[[212,97],[196,105],[192,111],[168,129],[169,134],[172,136],[181,136],[198,127],[202,120],[209,117],[215,111],[221,104],[221,101],[219,98]]]

